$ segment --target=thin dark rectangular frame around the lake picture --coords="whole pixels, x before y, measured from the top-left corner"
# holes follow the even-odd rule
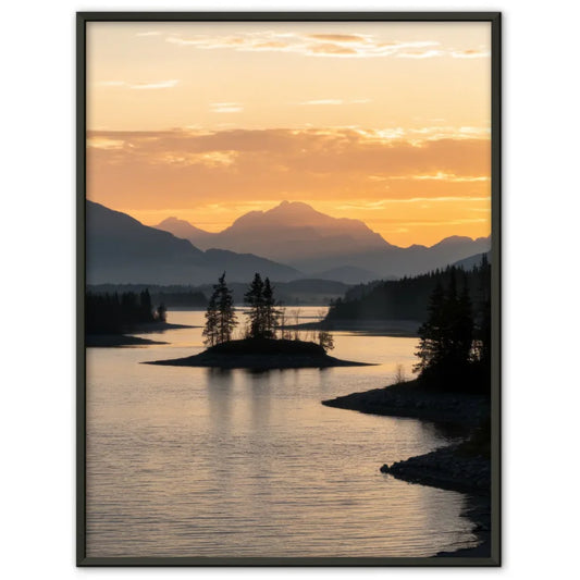
[[[482,557],[86,556],[86,24],[89,22],[490,22],[492,29],[492,555]],[[76,14],[76,565],[77,566],[501,566],[501,161],[499,12],[78,12]]]

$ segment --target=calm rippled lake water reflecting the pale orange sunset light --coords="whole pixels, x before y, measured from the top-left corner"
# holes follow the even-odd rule
[[[416,340],[336,334],[333,355],[380,366],[257,374],[140,365],[202,349],[201,329],[148,337],[171,344],[87,353],[88,556],[431,556],[476,544],[461,494],[379,471],[445,435],[320,404],[388,384],[397,363],[410,374]]]

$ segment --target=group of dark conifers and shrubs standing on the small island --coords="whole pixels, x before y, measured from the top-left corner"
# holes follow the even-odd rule
[[[285,329],[285,312],[274,297],[274,286],[270,280],[262,280],[256,272],[254,280],[244,294],[244,304],[248,306],[244,312],[246,317],[244,338],[252,340],[288,340],[289,333]],[[203,326],[203,344],[215,346],[233,340],[234,330],[238,325],[234,298],[231,288],[225,282],[225,272],[213,285],[213,292],[206,310],[206,324]],[[298,340],[298,334],[294,336]],[[332,335],[326,331],[318,333],[318,342],[324,349],[334,348]]]

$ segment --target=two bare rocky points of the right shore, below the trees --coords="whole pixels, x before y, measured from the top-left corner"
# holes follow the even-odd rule
[[[322,405],[369,415],[405,417],[461,428],[466,434],[489,416],[483,395],[430,393],[416,381],[322,400]],[[456,491],[466,495],[461,517],[473,525],[479,540],[473,547],[439,552],[432,557],[491,557],[491,461],[468,455],[461,444],[440,447],[424,455],[383,465],[382,473],[409,483]]]

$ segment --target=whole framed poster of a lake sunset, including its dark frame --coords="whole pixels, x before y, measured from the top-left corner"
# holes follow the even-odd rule
[[[498,566],[498,13],[77,15],[77,564]]]

